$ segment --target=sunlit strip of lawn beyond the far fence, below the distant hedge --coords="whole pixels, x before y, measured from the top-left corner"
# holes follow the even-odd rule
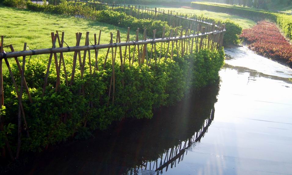
[[[184,14],[196,14],[199,16],[203,17],[208,17],[208,18],[213,18],[213,19],[218,19],[218,20],[226,20],[226,19],[230,19],[231,21],[234,21],[236,24],[239,24],[240,27],[242,27],[243,29],[246,28],[251,28],[253,27],[256,22],[254,22],[253,20],[247,19],[247,18],[243,18],[243,17],[239,17],[236,15],[229,15],[227,13],[216,13],[216,12],[210,12],[207,10],[196,10],[196,9],[188,9],[188,8],[175,8],[175,7],[169,7],[169,6],[159,6],[159,5],[148,5],[147,7],[150,8],[160,8],[160,9],[164,9],[166,12],[168,10],[172,10],[175,13],[184,13]]]

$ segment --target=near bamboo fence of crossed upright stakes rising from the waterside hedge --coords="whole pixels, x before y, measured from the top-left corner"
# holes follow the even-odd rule
[[[134,62],[138,62],[138,64],[141,66],[143,64],[150,65],[151,61],[155,65],[157,61],[161,60],[161,53],[163,50],[163,53],[171,53],[170,59],[173,59],[173,48],[177,49],[177,56],[184,56],[184,54],[187,53],[193,53],[198,52],[200,49],[209,48],[210,50],[219,49],[223,44],[223,36],[225,32],[225,26],[215,26],[215,24],[209,24],[208,27],[209,31],[207,32],[205,27],[202,27],[200,24],[192,24],[190,25],[190,28],[186,28],[179,31],[179,28],[175,30],[171,30],[169,37],[166,37],[163,32],[162,38],[155,38],[156,30],[153,30],[153,37],[152,39],[147,39],[146,37],[146,28],[144,28],[144,37],[143,40],[139,40],[139,28],[137,28],[136,31],[136,39],[135,41],[130,41],[130,28],[128,28],[127,32],[127,38],[126,42],[121,42],[120,37],[120,31],[117,30],[116,39],[113,39],[113,34],[110,33],[111,39],[109,44],[100,44],[100,37],[101,37],[101,30],[99,31],[99,35],[97,37],[97,34],[94,35],[94,44],[89,45],[89,32],[86,32],[85,37],[85,44],[83,46],[80,45],[81,42],[81,36],[82,33],[76,33],[76,45],[71,47],[64,47],[64,32],[61,32],[59,35],[59,32],[56,31],[56,33],[51,33],[51,48],[45,48],[45,49],[37,49],[37,50],[26,50],[27,43],[24,43],[24,50],[22,51],[15,51],[12,45],[4,46],[4,36],[1,36],[1,43],[0,43],[0,106],[4,106],[4,94],[3,94],[3,74],[2,74],[2,61],[4,59],[5,64],[7,65],[11,80],[13,82],[17,98],[18,98],[18,146],[17,146],[17,152],[16,152],[16,159],[19,157],[20,152],[20,144],[21,144],[21,131],[22,131],[22,121],[24,121],[24,127],[26,131],[26,136],[29,136],[29,127],[26,120],[26,115],[24,111],[23,106],[23,100],[22,96],[23,93],[27,93],[28,99],[30,103],[33,103],[33,100],[31,98],[29,88],[27,86],[26,80],[25,80],[25,64],[26,64],[26,56],[31,55],[42,55],[42,54],[49,54],[49,61],[47,65],[46,70],[46,76],[44,80],[44,86],[42,91],[42,96],[46,93],[46,87],[47,87],[47,81],[50,74],[50,66],[52,64],[55,64],[57,79],[56,79],[56,85],[55,85],[55,91],[60,91],[60,84],[64,83],[67,86],[72,86],[74,84],[74,77],[75,77],[75,71],[76,69],[80,69],[81,72],[81,78],[83,78],[85,65],[89,65],[90,69],[90,75],[94,76],[96,74],[96,71],[104,70],[105,64],[107,62],[107,58],[109,55],[112,58],[112,75],[111,75],[111,81],[110,81],[110,87],[109,87],[109,94],[108,94],[108,104],[111,102],[114,104],[115,99],[115,62],[116,58],[120,59],[121,62],[121,71],[123,72],[123,65],[129,64],[130,66],[133,65]],[[216,30],[215,30],[216,29]],[[163,29],[164,31],[164,29]],[[180,32],[180,35],[177,36]],[[184,34],[183,34],[184,32]],[[166,44],[167,47],[160,47],[160,50],[156,50],[156,45],[161,43],[161,46],[163,43]],[[151,44],[151,50],[150,53],[148,53],[147,45]],[[57,45],[59,47],[57,47]],[[4,48],[8,47],[10,49],[10,52],[5,52]],[[123,49],[122,49],[123,48]],[[100,49],[107,49],[106,56],[103,62],[103,68],[99,67],[98,63],[98,53]],[[132,49],[132,50],[131,50]],[[119,50],[119,53],[117,53],[117,50]],[[83,51],[83,59],[81,56],[81,51]],[[91,51],[94,51],[94,64],[91,62]],[[72,64],[72,72],[71,74],[68,73],[66,70],[66,64],[64,60],[64,53],[67,52],[74,52],[73,56],[73,64]],[[157,54],[159,53],[159,54]],[[136,56],[135,56],[136,55]],[[150,57],[148,57],[150,55]],[[20,61],[18,60],[19,57],[22,57],[22,65],[20,65]],[[138,59],[136,59],[138,57]],[[20,85],[16,83],[16,80],[14,78],[13,72],[11,70],[11,67],[9,65],[8,58],[14,58],[16,65],[19,70],[19,75],[21,76],[21,83]],[[165,55],[165,58],[168,58],[168,54]],[[79,62],[79,64],[78,64]],[[61,69],[61,66],[63,66],[63,69]],[[60,81],[60,72],[64,71],[65,80],[64,82]],[[122,80],[122,85],[124,85]],[[84,87],[80,87],[80,92],[84,94]],[[4,124],[3,124],[3,116],[0,117],[0,130],[4,131]],[[86,122],[84,124],[86,126]],[[9,146],[9,142],[5,140],[5,145],[7,147],[7,150],[9,152],[10,158],[14,160],[14,156],[12,154],[11,148]]]

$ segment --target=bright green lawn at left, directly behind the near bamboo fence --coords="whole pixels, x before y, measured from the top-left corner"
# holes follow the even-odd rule
[[[109,43],[110,32],[114,35],[115,43],[117,29],[120,30],[122,42],[126,41],[127,29],[106,23],[3,6],[0,6],[0,11],[2,13],[0,35],[4,35],[4,46],[12,44],[16,51],[23,50],[24,42],[30,49],[52,47],[51,32],[56,32],[56,30],[59,31],[60,37],[62,32],[65,32],[64,41],[69,46],[76,45],[76,32],[82,33],[80,45],[85,44],[86,32],[89,32],[89,40],[94,44],[93,34],[96,33],[98,39],[99,30],[102,30],[100,44]],[[135,31],[130,31],[131,40],[135,39]],[[65,43],[64,47],[67,47]],[[5,51],[10,51],[9,47],[5,48]],[[100,52],[104,51],[106,50],[103,49]]]

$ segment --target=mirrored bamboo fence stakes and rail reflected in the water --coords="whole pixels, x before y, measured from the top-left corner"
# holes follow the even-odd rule
[[[197,132],[195,132],[194,135],[192,135],[187,140],[182,141],[179,145],[172,147],[170,149],[167,149],[164,154],[161,155],[160,158],[158,158],[155,161],[146,161],[143,163],[141,167],[136,167],[135,171],[139,171],[145,169],[145,170],[152,170],[155,171],[156,174],[163,173],[163,169],[165,171],[168,170],[169,166],[170,168],[176,167],[176,164],[179,164],[179,162],[183,161],[184,155],[188,154],[188,148],[192,146],[195,142],[201,142],[201,139],[205,136],[205,134],[208,132],[208,127],[211,125],[212,121],[214,120],[214,112],[215,109],[213,108],[210,113],[210,117],[205,120],[203,123],[201,129]],[[128,174],[133,173],[133,169],[128,171]]]

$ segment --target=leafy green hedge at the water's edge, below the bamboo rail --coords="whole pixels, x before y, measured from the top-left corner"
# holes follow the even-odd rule
[[[150,47],[150,46],[148,46]],[[150,49],[150,48],[149,48]],[[159,50],[159,49],[158,49]],[[163,56],[163,55],[162,55]],[[111,79],[111,59],[108,59],[105,70],[99,71],[95,77],[90,76],[86,65],[84,79],[80,79],[80,71],[76,70],[74,84],[68,88],[64,83],[60,92],[52,88],[56,83],[56,73],[51,71],[44,97],[42,86],[44,82],[47,59],[30,60],[25,73],[33,102],[30,104],[27,94],[24,94],[24,110],[30,130],[30,138],[22,137],[24,151],[41,151],[49,144],[55,144],[70,137],[87,137],[94,129],[105,129],[112,121],[123,117],[151,118],[152,109],[175,104],[186,92],[201,88],[213,82],[218,77],[218,71],[223,65],[224,51],[200,50],[194,55],[184,58],[167,59],[141,68],[134,63],[124,66],[122,74],[119,59],[115,65],[115,101],[108,99],[108,88]],[[149,55],[150,57],[150,55]],[[104,56],[100,58],[100,68]],[[72,58],[66,57],[67,72],[70,75]],[[54,66],[51,66],[54,70]],[[63,71],[61,71],[63,72]],[[18,75],[16,65],[13,65],[14,75]],[[124,88],[122,88],[122,77]],[[4,93],[6,108],[5,123],[17,123],[18,102],[9,73],[5,73]],[[16,77],[20,84],[20,77]],[[64,75],[61,76],[64,82]],[[80,87],[84,86],[85,96],[80,95]],[[79,95],[78,95],[79,94]],[[108,100],[110,105],[107,107]],[[92,105],[89,106],[89,102]],[[25,133],[25,132],[24,132]],[[12,149],[16,150],[17,129],[9,134]]]

